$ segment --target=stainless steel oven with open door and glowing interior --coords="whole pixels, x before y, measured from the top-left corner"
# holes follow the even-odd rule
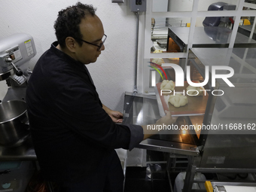
[[[170,157],[173,154],[187,157],[183,191],[192,191],[194,175],[197,172],[256,172],[255,63],[255,48],[190,49],[187,66],[190,66],[192,81],[205,80],[206,66],[210,69],[212,66],[229,66],[234,74],[228,79],[234,87],[230,87],[221,78],[216,78],[216,85],[213,87],[213,71],[210,70],[209,82],[203,87],[208,90],[206,105],[203,102],[198,105],[198,108],[203,105],[203,114],[193,110],[183,111],[184,113],[182,110],[178,113],[172,111],[173,114],[179,114],[176,121],[178,129],[161,131],[137,146],[167,152]],[[218,74],[226,75],[228,72],[219,70]],[[163,105],[163,101],[158,96],[126,93],[125,122],[154,123],[163,112],[159,105]],[[203,126],[205,129],[198,129]],[[187,127],[185,132],[182,127]],[[252,180],[255,183],[255,177]]]

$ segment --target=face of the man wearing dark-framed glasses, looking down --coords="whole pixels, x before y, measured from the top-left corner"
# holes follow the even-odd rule
[[[87,16],[86,19],[81,20],[80,30],[82,34],[82,39],[92,44],[87,44],[86,42],[83,42],[81,47],[78,47],[76,49],[76,58],[78,59],[78,61],[84,64],[96,62],[101,51],[105,50],[104,44],[102,45],[100,50],[98,50],[99,47],[93,45],[100,45],[102,43],[102,37],[104,35],[102,22],[96,15]]]

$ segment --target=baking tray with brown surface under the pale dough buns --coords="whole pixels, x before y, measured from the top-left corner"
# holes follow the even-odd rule
[[[206,96],[203,94],[203,96],[187,96],[186,88],[188,86],[187,81],[184,81],[184,87],[175,87],[175,93],[182,92],[184,90],[185,96],[187,96],[187,105],[184,105],[180,108],[175,108],[170,103],[166,103],[166,100],[164,99],[164,96],[160,95],[160,86],[162,83],[156,84],[154,87],[155,93],[157,96],[157,105],[160,111],[160,116],[165,116],[164,111],[171,111],[171,114],[173,117],[183,117],[183,116],[194,116],[194,115],[203,115],[206,111],[206,105],[208,100],[208,93],[206,93]],[[172,93],[164,94],[172,95]]]

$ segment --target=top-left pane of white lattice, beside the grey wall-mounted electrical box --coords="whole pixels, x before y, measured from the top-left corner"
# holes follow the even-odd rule
[[[193,0],[153,0],[152,12],[192,11]]]

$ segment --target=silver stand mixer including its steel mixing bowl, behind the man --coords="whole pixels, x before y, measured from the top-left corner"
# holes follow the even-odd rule
[[[20,145],[29,134],[25,96],[31,74],[29,60],[35,54],[31,35],[17,33],[0,39],[0,81],[8,86],[0,102],[0,145]]]

